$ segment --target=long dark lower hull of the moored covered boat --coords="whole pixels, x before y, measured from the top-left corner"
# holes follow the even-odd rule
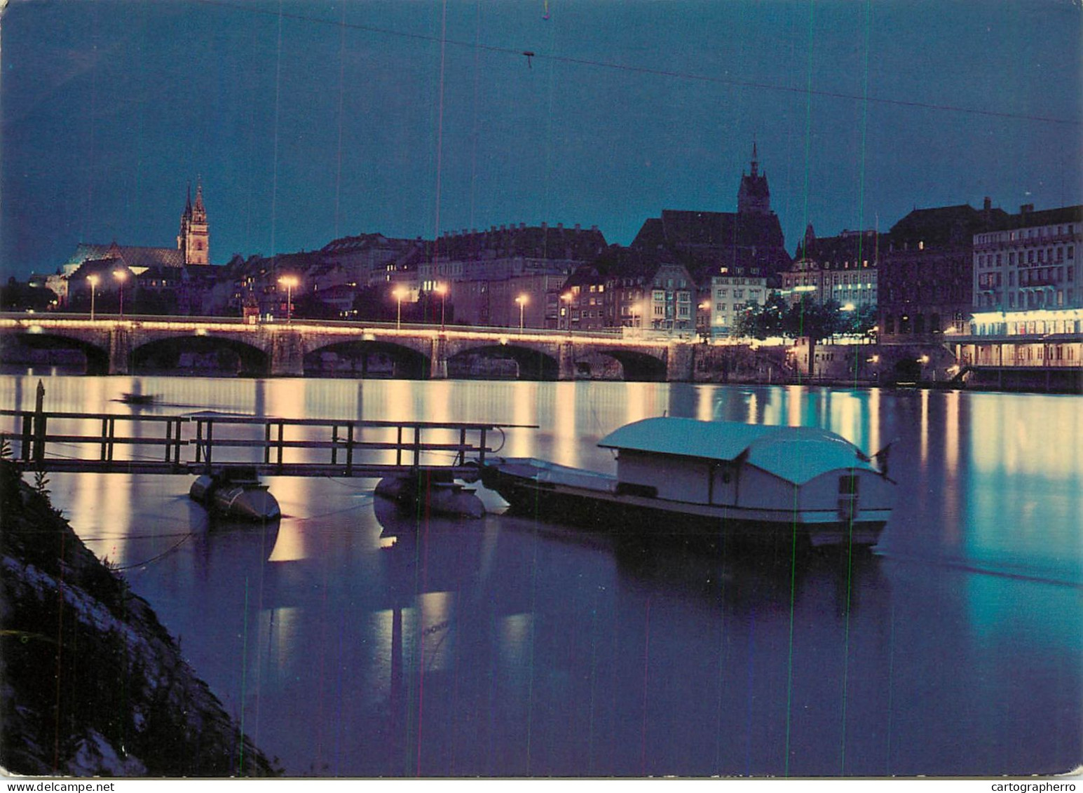
[[[584,487],[540,478],[509,473],[499,465],[482,470],[482,483],[496,491],[513,515],[608,531],[649,541],[690,543],[723,541],[741,544],[783,541],[825,546],[875,545],[890,515],[889,509],[861,510],[857,519],[841,519],[837,511],[742,509],[688,504],[619,492],[612,487]],[[583,472],[597,477],[593,472]]]

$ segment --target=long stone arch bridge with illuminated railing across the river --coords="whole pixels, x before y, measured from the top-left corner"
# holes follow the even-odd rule
[[[570,380],[584,372],[584,360],[603,356],[619,364],[624,379],[658,381],[691,380],[696,347],[694,338],[645,334],[27,314],[0,315],[0,343],[78,350],[91,374],[130,374],[184,351],[229,352],[240,372],[273,377],[329,374],[335,366],[341,372],[343,362],[352,365],[347,370],[364,375],[367,362],[378,356],[390,366],[383,374],[400,377],[446,378],[465,361],[497,359],[513,362],[508,364],[513,376]]]

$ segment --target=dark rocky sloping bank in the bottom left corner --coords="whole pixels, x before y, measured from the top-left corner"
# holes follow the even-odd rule
[[[274,765],[154,610],[0,459],[0,766],[32,776],[263,777]]]

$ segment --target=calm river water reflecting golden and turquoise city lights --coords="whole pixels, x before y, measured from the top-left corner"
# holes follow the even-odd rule
[[[38,376],[0,377],[32,408]],[[874,552],[795,568],[490,514],[371,480],[269,478],[284,517],[208,526],[184,477],[51,474],[269,756],[324,776],[890,776],[1083,759],[1083,398],[636,382],[45,378],[51,411],[493,421],[501,454],[668,414],[895,441]],[[142,391],[165,404],[115,402]],[[483,493],[494,510],[498,497]]]

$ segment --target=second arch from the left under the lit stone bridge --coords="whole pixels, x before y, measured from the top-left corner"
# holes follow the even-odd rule
[[[264,377],[270,359],[258,347],[233,338],[210,335],[185,335],[156,338],[132,348],[131,368],[208,369],[236,375]]]

